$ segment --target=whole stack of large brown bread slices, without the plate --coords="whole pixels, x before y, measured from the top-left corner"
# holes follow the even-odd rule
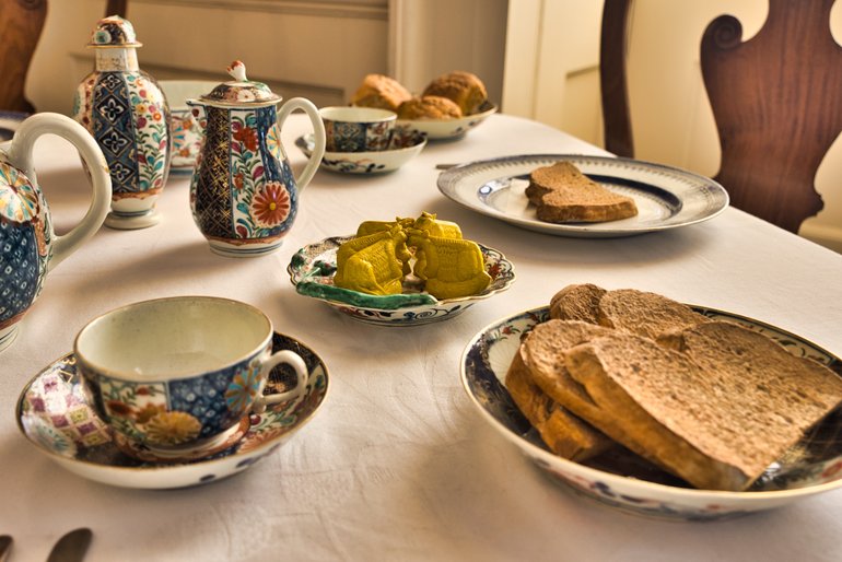
[[[706,490],[751,485],[842,402],[842,378],[665,296],[570,285],[505,379],[547,446],[584,461],[617,444]]]

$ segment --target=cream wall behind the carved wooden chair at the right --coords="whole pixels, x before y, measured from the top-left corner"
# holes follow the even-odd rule
[[[842,37],[842,2],[831,30]],[[636,157],[715,175],[720,148],[699,62],[707,23],[732,13],[742,21],[744,40],[765,19],[767,0],[638,0],[629,42],[629,102]],[[601,2],[518,0],[510,4],[503,103],[510,113],[542,120],[600,144],[599,23]],[[669,48],[664,48],[669,45]],[[529,73],[534,77],[530,80]],[[800,234],[842,251],[842,141],[831,148],[816,186],[825,200]]]

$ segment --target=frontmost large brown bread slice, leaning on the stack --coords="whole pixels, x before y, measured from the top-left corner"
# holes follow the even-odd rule
[[[698,488],[746,489],[842,400],[842,383],[829,370],[819,373],[811,365],[779,370],[763,355],[772,353],[788,364],[787,352],[779,354],[755,338],[746,338],[751,344],[739,347],[735,363],[734,354],[709,347],[710,335],[721,331],[724,339],[714,338],[720,343],[734,335],[730,328],[705,324],[682,337],[688,349],[705,348],[698,355],[710,360],[706,366],[688,353],[621,332],[569,349],[564,362],[570,375],[599,407],[623,421],[625,434],[612,433],[601,420],[585,419],[632,450],[643,447],[657,464]],[[697,339],[698,333],[704,337]],[[678,337],[673,336],[674,343]],[[794,393],[805,384],[820,385],[827,399],[798,400],[800,406],[791,408]]]

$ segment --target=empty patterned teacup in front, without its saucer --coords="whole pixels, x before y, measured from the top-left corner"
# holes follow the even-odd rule
[[[198,458],[236,443],[252,411],[304,393],[304,361],[289,350],[271,354],[272,333],[271,320],[248,304],[176,296],[95,318],[73,352],[90,403],[124,450]],[[295,387],[264,395],[279,364],[292,367]]]

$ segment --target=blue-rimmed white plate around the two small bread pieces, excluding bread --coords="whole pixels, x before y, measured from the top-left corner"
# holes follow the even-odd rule
[[[600,223],[539,221],[524,190],[529,173],[566,161],[611,191],[629,196],[638,215]],[[663,231],[713,219],[728,194],[713,179],[671,166],[629,159],[535,154],[472,162],[438,176],[438,189],[468,209],[530,231],[574,237],[617,237]]]

